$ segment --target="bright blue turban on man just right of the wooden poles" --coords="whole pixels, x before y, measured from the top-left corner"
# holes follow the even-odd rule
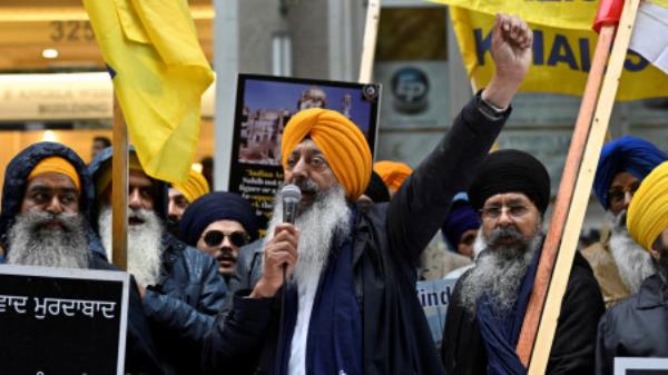
[[[599,159],[593,193],[605,209],[609,209],[608,190],[617,174],[631,174],[639,180],[649,175],[655,167],[668,160],[668,155],[645,139],[623,136],[603,146]]]

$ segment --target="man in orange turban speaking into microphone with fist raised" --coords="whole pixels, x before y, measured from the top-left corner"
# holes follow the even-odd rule
[[[508,118],[531,42],[522,20],[499,16],[488,88],[391,201],[366,214],[354,206],[372,170],[358,128],[327,109],[292,117],[281,146],[284,181],[302,190],[297,217],[283,223],[277,197],[267,237],[242,249],[261,261],[237,265],[234,295],[205,343],[207,372],[443,374],[415,266]]]

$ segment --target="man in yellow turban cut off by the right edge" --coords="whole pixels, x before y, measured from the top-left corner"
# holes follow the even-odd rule
[[[596,374],[612,374],[615,357],[668,357],[668,161],[640,184],[627,227],[651,256],[656,274],[610,307],[599,323]]]

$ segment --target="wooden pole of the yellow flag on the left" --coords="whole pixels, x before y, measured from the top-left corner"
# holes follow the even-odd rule
[[[114,96],[111,156],[111,259],[127,269],[128,247],[128,129],[118,99]]]

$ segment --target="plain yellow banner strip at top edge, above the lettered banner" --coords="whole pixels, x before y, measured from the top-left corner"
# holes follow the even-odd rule
[[[530,23],[591,30],[598,9],[595,0],[429,0],[487,14],[517,14]],[[668,1],[668,0],[655,0]]]

